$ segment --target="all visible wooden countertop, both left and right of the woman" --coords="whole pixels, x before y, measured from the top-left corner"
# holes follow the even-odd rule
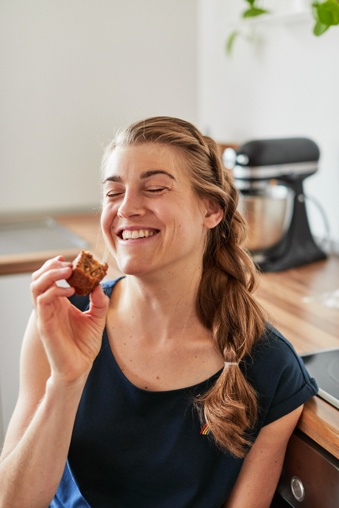
[[[107,259],[108,279],[121,272],[106,249],[99,214],[57,215],[54,218],[87,240],[97,259]],[[63,252],[60,252],[62,254]],[[69,256],[68,256],[69,258]],[[46,257],[46,259],[48,259]],[[38,269],[43,259],[27,257],[15,271]],[[0,266],[0,273],[14,273],[14,265]],[[271,323],[293,344],[297,353],[339,346],[339,309],[324,305],[324,293],[339,288],[339,258],[312,263],[279,273],[260,275],[256,297],[270,315]],[[339,459],[339,410],[316,396],[307,401],[298,425],[300,430]]]

